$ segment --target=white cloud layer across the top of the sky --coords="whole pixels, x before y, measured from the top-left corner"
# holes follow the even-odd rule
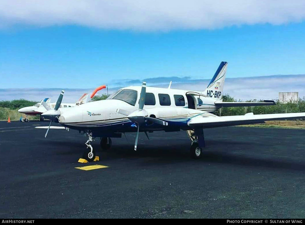
[[[104,29],[214,29],[305,19],[304,0],[0,0],[0,26],[77,24]]]

